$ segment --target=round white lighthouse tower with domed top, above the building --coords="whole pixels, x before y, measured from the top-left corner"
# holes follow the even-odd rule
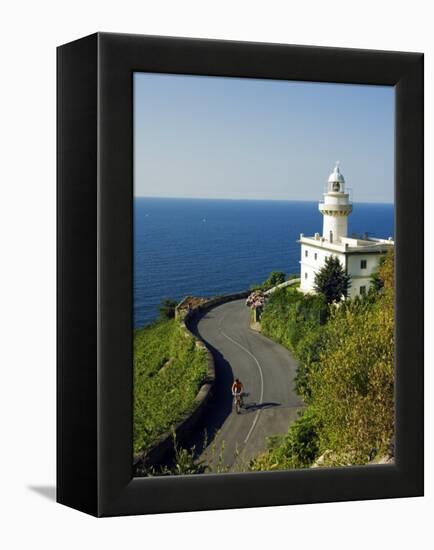
[[[339,242],[347,236],[348,215],[353,210],[348,193],[345,193],[345,179],[339,171],[339,161],[330,174],[324,201],[319,203],[319,211],[324,216],[323,238],[330,243]]]

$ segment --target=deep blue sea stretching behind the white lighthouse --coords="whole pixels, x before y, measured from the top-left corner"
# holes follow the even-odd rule
[[[349,235],[394,234],[392,204],[355,204]],[[136,198],[134,327],[165,298],[245,290],[299,272],[300,233],[322,232],[318,202]]]

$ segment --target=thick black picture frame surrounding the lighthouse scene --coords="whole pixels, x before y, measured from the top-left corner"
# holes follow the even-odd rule
[[[97,33],[57,64],[58,502],[114,516],[422,495],[423,55]],[[395,86],[393,465],[132,477],[135,71]]]

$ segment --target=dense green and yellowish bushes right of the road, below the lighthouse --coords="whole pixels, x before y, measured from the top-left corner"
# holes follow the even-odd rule
[[[298,358],[296,384],[306,408],[253,469],[308,467],[320,456],[325,465],[364,464],[388,453],[394,432],[393,268],[389,253],[378,270],[381,284],[364,298],[328,306],[326,320],[313,297],[293,291],[267,303],[263,332]],[[311,317],[300,315],[311,307]]]

